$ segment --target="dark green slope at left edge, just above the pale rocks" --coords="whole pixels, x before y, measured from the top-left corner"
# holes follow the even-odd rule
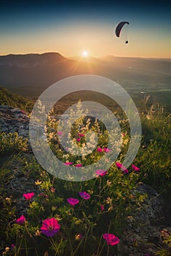
[[[31,100],[13,94],[3,86],[0,86],[0,105],[9,105],[27,112],[31,112],[31,109],[33,108],[33,102]]]

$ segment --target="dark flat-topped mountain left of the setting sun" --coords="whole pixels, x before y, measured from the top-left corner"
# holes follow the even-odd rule
[[[39,95],[52,83],[73,74],[73,61],[60,53],[0,56],[0,84],[24,96]]]

